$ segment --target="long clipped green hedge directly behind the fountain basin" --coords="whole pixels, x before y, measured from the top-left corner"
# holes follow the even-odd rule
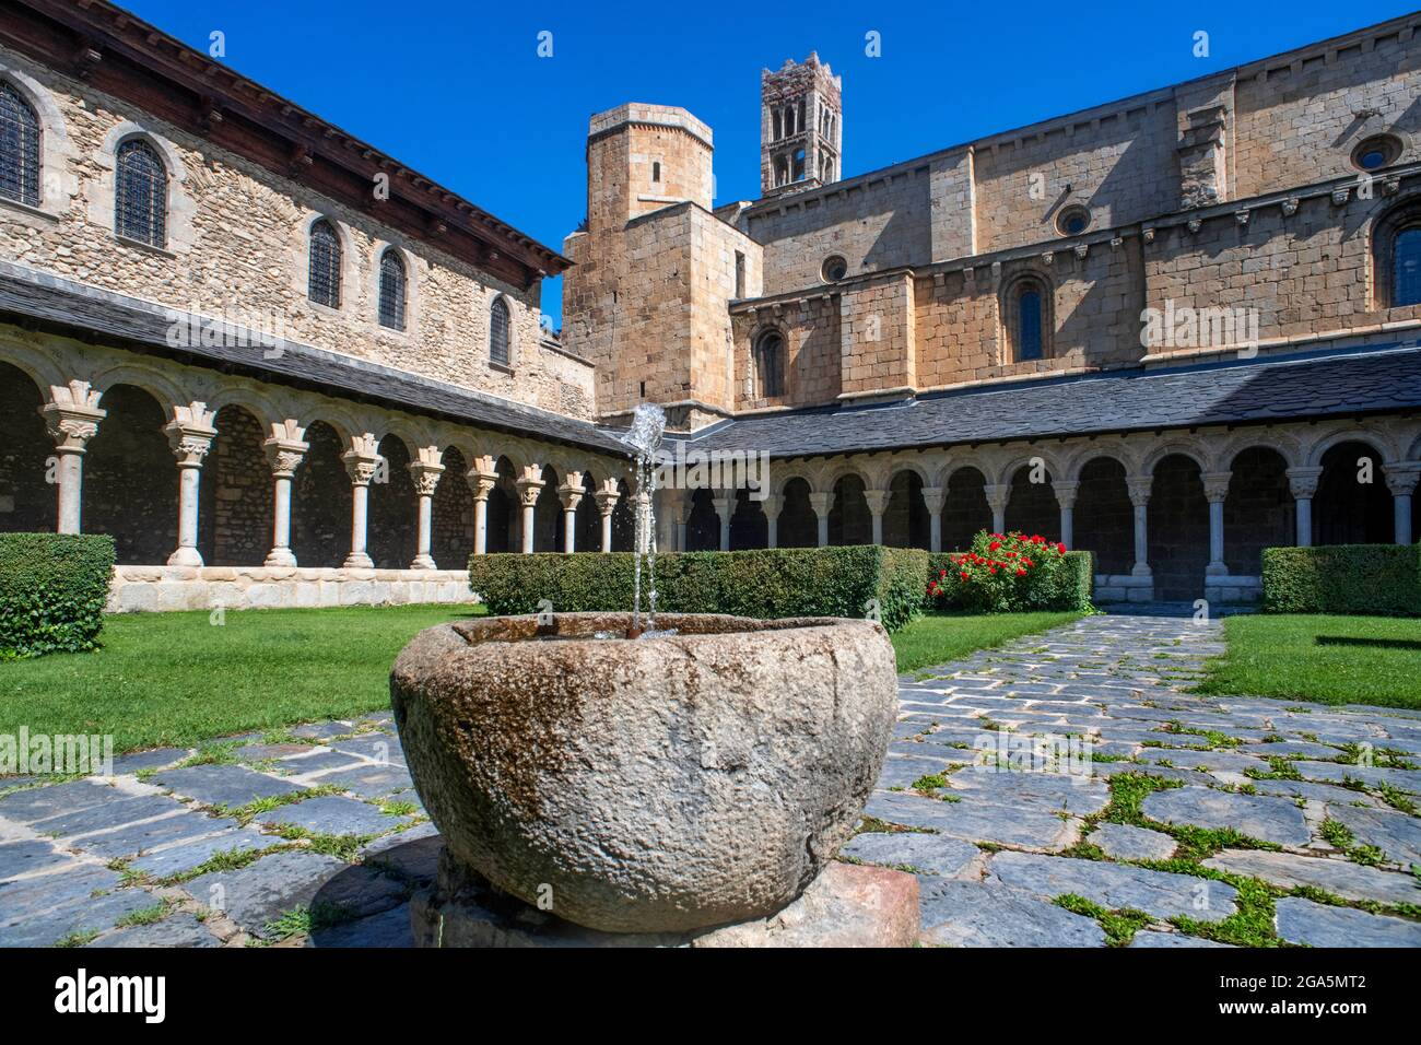
[[[645,566],[644,566],[645,570]],[[779,547],[657,556],[657,609],[737,617],[864,617],[878,600],[890,631],[922,613],[928,553],[918,549]],[[469,584],[490,613],[631,610],[632,554],[482,554],[469,559]],[[642,574],[645,604],[647,576]]]

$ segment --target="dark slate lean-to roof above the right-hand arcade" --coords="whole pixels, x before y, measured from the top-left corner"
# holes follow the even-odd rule
[[[1417,343],[963,388],[736,418],[699,449],[810,456],[1421,408]]]

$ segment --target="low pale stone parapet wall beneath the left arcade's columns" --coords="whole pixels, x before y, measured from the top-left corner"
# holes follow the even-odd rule
[[[109,613],[476,603],[466,570],[115,566]]]

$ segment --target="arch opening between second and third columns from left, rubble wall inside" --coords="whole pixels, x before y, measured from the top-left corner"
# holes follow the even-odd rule
[[[260,566],[271,550],[273,481],[260,418],[229,402],[198,486],[198,550],[207,566]]]

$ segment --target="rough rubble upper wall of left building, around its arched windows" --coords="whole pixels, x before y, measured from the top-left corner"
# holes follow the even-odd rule
[[[50,192],[38,210],[0,200],[0,254],[151,301],[279,330],[287,338],[547,409],[590,417],[591,367],[541,347],[540,284],[510,286],[335,206],[212,142],[0,48],[0,77],[44,122]],[[114,151],[145,136],[169,169],[165,249],[114,235]],[[341,236],[341,307],[307,299],[307,235]],[[377,320],[379,257],[401,252],[406,328]],[[489,306],[513,320],[512,368],[489,361]],[[553,358],[550,358],[553,357]]]

